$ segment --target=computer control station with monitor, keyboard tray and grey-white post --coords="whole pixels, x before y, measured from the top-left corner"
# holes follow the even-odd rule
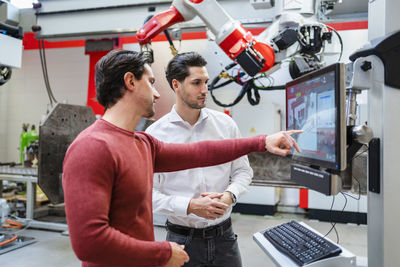
[[[287,84],[288,128],[305,131],[305,135],[297,137],[299,147],[304,153],[293,157],[302,162],[302,165],[292,165],[291,175],[296,182],[328,195],[338,194],[341,188],[336,191],[333,188],[337,188],[334,186],[335,181],[344,175],[341,171],[352,165],[353,155],[361,146],[365,145],[368,148],[368,216],[381,218],[368,221],[368,266],[391,266],[396,262],[386,251],[393,250],[394,253],[395,250],[393,246],[395,247],[397,242],[398,232],[392,223],[398,220],[398,214],[385,212],[384,207],[397,205],[391,193],[395,194],[392,188],[399,185],[398,164],[389,164],[397,153],[393,146],[398,147],[395,140],[400,133],[396,116],[392,115],[400,112],[397,104],[400,97],[400,80],[398,75],[394,74],[400,62],[399,48],[400,31],[397,30],[371,40],[350,56],[354,62],[354,75],[348,91],[369,90],[368,121],[371,128],[354,125],[356,98],[351,97],[350,92],[347,94],[347,105],[350,107],[346,108],[344,105],[343,66],[337,64],[326,67]],[[346,111],[345,119],[342,114]],[[385,122],[385,126],[382,125],[382,121]],[[325,136],[326,130],[334,132]],[[343,131],[346,133],[343,134]],[[346,138],[347,146],[340,145]],[[390,145],[382,144],[383,140],[394,142]],[[326,141],[331,142],[332,151],[324,149]],[[346,157],[347,161],[343,162]],[[290,242],[284,242],[285,236],[277,238],[290,251],[281,254],[270,246],[275,241],[266,241],[263,237],[264,232],[254,234],[254,240],[274,262],[278,266],[298,266],[288,261],[288,258],[292,257],[290,251],[293,252],[293,247],[288,244]],[[387,235],[382,236],[382,233]],[[277,248],[279,250],[279,246]],[[307,254],[306,258],[309,257]],[[339,254],[329,261],[327,259],[310,264],[316,267],[338,265],[359,266],[359,263],[354,259],[354,255],[350,254],[349,257],[347,253]]]

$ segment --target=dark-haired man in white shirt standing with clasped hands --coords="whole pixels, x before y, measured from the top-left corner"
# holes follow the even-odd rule
[[[228,115],[205,108],[207,62],[195,52],[176,55],[166,77],[176,93],[170,113],[146,132],[168,143],[240,137]],[[253,177],[247,156],[207,168],[155,174],[153,211],[166,214],[167,240],[185,245],[184,266],[242,266],[230,214]]]

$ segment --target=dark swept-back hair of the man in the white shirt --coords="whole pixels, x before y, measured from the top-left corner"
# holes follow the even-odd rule
[[[204,67],[205,65],[207,65],[207,61],[199,53],[187,52],[177,54],[168,63],[167,70],[165,71],[169,86],[174,90],[172,87],[173,79],[180,82],[185,80],[190,75],[189,67]]]

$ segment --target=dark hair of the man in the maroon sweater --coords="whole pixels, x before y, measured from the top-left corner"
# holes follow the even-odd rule
[[[125,73],[132,72],[140,80],[146,63],[149,63],[149,58],[144,54],[128,50],[112,50],[97,62],[96,95],[104,109],[113,106],[124,95]]]

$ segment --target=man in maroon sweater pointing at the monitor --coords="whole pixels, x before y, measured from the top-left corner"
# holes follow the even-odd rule
[[[82,266],[181,266],[189,260],[174,242],[155,242],[154,172],[205,167],[268,150],[285,156],[300,131],[192,144],[167,144],[134,132],[154,115],[160,97],[141,53],[115,50],[96,65],[102,119],[84,130],[64,159],[63,189],[72,248]]]

